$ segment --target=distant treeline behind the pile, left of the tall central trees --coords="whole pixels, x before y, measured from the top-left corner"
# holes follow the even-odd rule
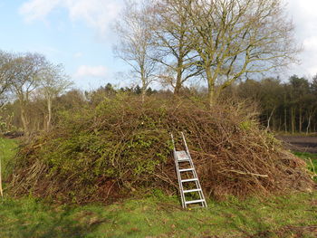
[[[114,97],[120,93],[128,93],[139,95],[141,90],[139,86],[125,87],[115,89],[110,83],[106,86],[101,86],[97,90],[83,91],[72,89],[55,96],[52,99],[52,126],[57,124],[57,121],[65,112],[76,111],[82,108],[96,107],[102,100]],[[146,91],[147,95],[152,93],[168,93],[170,91],[152,90],[150,87]],[[10,131],[24,131],[23,121],[21,119],[21,102],[18,99],[8,101],[0,108],[0,133]],[[28,131],[34,133],[40,130],[47,129],[47,101],[41,93],[34,91],[32,97],[27,104],[25,117],[28,119]]]

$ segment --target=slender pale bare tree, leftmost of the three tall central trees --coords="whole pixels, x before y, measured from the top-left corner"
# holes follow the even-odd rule
[[[117,22],[115,32],[119,43],[114,52],[127,62],[132,73],[141,82],[142,100],[144,100],[149,84],[155,78],[156,64],[151,55],[151,33],[149,29],[149,9],[142,2],[126,2],[126,6]],[[155,57],[154,57],[155,58]]]

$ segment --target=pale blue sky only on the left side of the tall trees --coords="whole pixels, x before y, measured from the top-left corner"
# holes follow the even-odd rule
[[[40,11],[45,3],[57,1],[0,0],[0,50],[43,53],[51,62],[63,63],[75,85],[85,90],[107,82],[117,85],[128,83],[122,81],[122,77],[118,79],[118,72],[127,68],[112,53],[115,35],[111,32],[111,13],[107,16],[107,13],[99,13],[93,7],[91,12],[84,12],[80,7],[84,9],[85,5],[60,5],[46,14],[44,10],[40,11],[41,15],[34,12],[31,5],[29,10],[27,8],[28,4],[36,2]],[[85,2],[93,1],[82,1]],[[73,15],[72,7],[78,9]],[[116,11],[119,9],[118,4]],[[90,22],[87,18],[90,14],[99,19],[95,23]]]

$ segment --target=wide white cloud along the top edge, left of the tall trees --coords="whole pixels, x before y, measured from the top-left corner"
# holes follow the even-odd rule
[[[83,21],[104,36],[120,12],[120,3],[118,0],[29,0],[19,12],[26,21],[32,22],[45,19],[56,8],[66,8],[73,22]]]

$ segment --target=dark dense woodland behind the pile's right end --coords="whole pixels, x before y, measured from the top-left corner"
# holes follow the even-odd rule
[[[286,82],[278,78],[246,80],[233,85],[227,93],[258,102],[260,119],[267,129],[290,133],[317,131],[317,75],[312,81],[296,75]]]

